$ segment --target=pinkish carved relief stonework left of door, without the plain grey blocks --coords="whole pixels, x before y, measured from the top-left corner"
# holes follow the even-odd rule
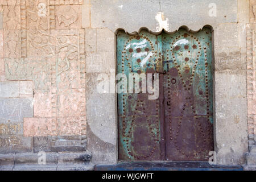
[[[29,80],[34,85],[28,94],[27,90],[20,91],[22,97],[34,97],[34,116],[25,114],[23,135],[85,134],[85,49],[84,30],[80,29],[83,1],[0,3],[0,40],[5,35],[2,47],[0,44],[1,79],[5,75],[6,80]]]

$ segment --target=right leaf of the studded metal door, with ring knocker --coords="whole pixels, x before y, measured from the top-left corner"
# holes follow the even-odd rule
[[[166,159],[208,160],[213,150],[211,32],[162,36]]]

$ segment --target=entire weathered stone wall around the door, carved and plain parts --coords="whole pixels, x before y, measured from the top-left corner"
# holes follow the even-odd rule
[[[245,163],[256,134],[255,0],[0,3],[0,153],[82,151],[87,141],[94,163],[116,163],[117,96],[96,92],[97,76],[115,72],[115,32],[208,25],[214,150],[218,164]]]

